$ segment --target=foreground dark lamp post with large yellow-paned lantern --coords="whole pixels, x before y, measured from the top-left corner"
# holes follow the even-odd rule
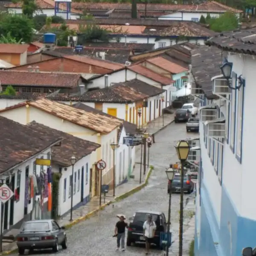
[[[183,165],[189,155],[189,144],[186,140],[180,140],[175,145],[178,158],[181,163],[181,174],[180,174],[180,230],[179,230],[179,256],[182,256],[182,246],[183,246],[183,180],[184,180],[184,168]]]

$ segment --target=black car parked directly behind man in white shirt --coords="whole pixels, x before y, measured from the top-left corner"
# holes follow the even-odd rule
[[[131,243],[145,242],[143,224],[148,219],[148,215],[152,215],[152,221],[154,221],[157,226],[153,243],[160,248],[160,232],[167,232],[166,216],[163,212],[151,212],[146,210],[137,211],[132,218],[129,218],[130,224],[126,240],[127,246],[131,246]]]

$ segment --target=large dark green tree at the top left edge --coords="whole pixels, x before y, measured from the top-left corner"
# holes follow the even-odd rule
[[[18,42],[20,40],[29,43],[33,36],[33,21],[26,15],[20,14],[4,14],[0,19],[0,35],[15,38]]]

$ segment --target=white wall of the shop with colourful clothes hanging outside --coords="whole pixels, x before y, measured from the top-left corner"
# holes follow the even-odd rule
[[[13,224],[16,224],[20,220],[24,218],[24,201],[25,201],[25,176],[26,176],[26,167],[29,167],[29,176],[33,174],[33,162],[36,160],[36,158],[44,157],[44,159],[47,159],[47,153],[51,154],[51,149],[47,148],[46,150],[42,151],[41,154],[36,155],[35,157],[32,157],[29,160],[26,160],[25,162],[21,163],[19,166],[16,166],[13,170],[13,174],[15,176],[15,187],[17,188],[17,171],[18,169],[21,170],[20,174],[20,200],[14,201],[14,218],[13,218]],[[36,166],[36,174],[40,175],[41,166]],[[47,172],[47,166],[44,166],[44,172]],[[9,182],[12,180],[12,175],[9,175]],[[6,180],[8,177],[6,175],[0,176],[1,179]],[[44,199],[44,203],[48,201],[48,198]],[[6,204],[7,205],[7,204]],[[5,211],[8,210],[10,212],[11,204],[9,201],[8,208],[6,207]],[[33,209],[33,200],[31,200],[30,204],[28,204],[27,213],[31,212]],[[1,209],[0,209],[1,213]],[[9,214],[8,214],[8,227],[9,229]],[[0,224],[1,226],[1,224]]]

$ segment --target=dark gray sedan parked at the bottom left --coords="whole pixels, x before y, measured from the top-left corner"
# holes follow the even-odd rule
[[[67,249],[65,227],[60,227],[55,220],[35,220],[23,223],[20,233],[16,236],[19,254],[25,250],[52,248],[58,252],[59,245]]]

